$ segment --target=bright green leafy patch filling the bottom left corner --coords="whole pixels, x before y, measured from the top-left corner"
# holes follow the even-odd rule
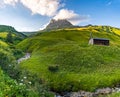
[[[0,97],[24,97],[25,86],[19,85],[15,80],[3,73],[0,69]]]

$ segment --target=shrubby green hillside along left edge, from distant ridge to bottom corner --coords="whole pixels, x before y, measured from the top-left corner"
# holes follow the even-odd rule
[[[0,25],[0,97],[35,97],[36,95],[36,92],[28,91],[27,85],[19,81],[22,74],[16,60],[23,56],[23,52],[16,49],[15,44],[25,37],[12,27]]]

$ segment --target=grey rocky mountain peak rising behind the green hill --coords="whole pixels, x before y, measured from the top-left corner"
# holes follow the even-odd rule
[[[46,27],[46,30],[55,30],[55,29],[70,28],[70,27],[73,27],[73,25],[67,20],[52,19],[48,24],[48,26]]]

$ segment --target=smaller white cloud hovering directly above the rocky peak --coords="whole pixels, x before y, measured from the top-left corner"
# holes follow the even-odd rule
[[[54,17],[55,20],[58,19],[67,19],[72,24],[77,25],[81,22],[89,20],[89,16],[80,16],[76,14],[73,10],[61,9],[58,14]]]

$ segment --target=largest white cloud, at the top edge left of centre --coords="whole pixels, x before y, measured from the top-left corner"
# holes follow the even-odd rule
[[[32,14],[54,16],[59,9],[60,0],[3,0],[5,4],[15,5],[18,1],[32,11]]]

